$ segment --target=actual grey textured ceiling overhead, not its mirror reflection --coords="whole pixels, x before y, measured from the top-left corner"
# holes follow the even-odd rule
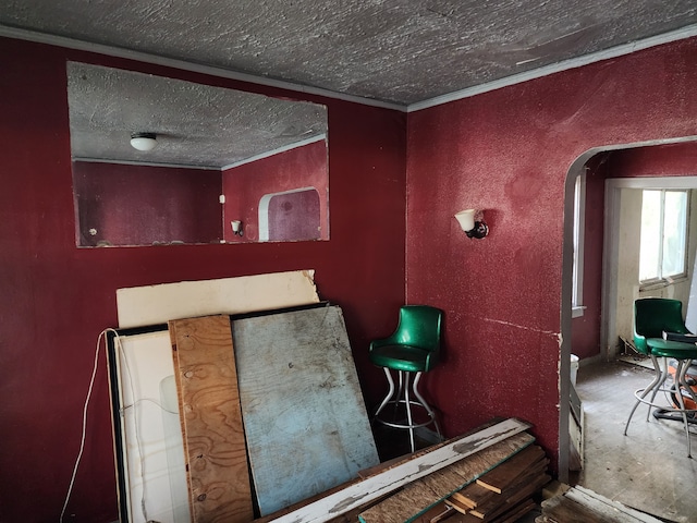
[[[695,0],[0,0],[0,24],[408,106],[697,22]]]

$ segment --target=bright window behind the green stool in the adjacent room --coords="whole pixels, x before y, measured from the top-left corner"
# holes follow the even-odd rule
[[[639,283],[670,283],[686,277],[688,191],[644,190]]]

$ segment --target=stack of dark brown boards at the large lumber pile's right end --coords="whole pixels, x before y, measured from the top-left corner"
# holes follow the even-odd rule
[[[545,451],[530,445],[451,495],[445,504],[468,516],[460,521],[514,522],[536,507],[533,496],[551,479],[548,464]]]

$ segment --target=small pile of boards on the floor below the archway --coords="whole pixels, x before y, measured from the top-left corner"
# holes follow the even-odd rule
[[[572,487],[542,501],[536,523],[660,523],[660,520],[612,501],[592,490]]]

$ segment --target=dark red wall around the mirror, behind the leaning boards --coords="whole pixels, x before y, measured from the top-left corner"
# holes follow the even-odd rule
[[[76,248],[66,59],[250,88],[0,39],[0,520],[8,522],[59,519],[78,451],[97,338],[117,326],[117,289],[316,269],[321,297],[343,308],[369,402],[382,392],[383,376],[367,361],[368,340],[394,327],[404,302],[403,113],[297,95],[329,108],[327,242]],[[102,351],[65,521],[117,519],[112,461]]]

